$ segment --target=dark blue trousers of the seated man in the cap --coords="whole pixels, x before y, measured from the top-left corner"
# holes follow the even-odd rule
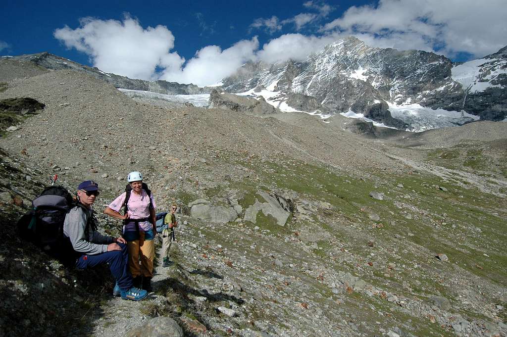
[[[132,288],[132,275],[128,266],[127,245],[118,243],[122,250],[113,250],[96,255],[81,255],[76,261],[76,268],[87,269],[101,264],[108,264],[111,274],[116,279],[116,283],[122,290]]]

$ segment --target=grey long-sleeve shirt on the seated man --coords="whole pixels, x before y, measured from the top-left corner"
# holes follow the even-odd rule
[[[86,238],[86,219],[91,219],[92,216],[92,209],[85,211],[82,207],[76,206],[67,213],[63,222],[63,234],[70,239],[74,250],[90,255],[106,252],[107,245],[113,242],[113,237],[94,231],[92,226],[88,227]]]

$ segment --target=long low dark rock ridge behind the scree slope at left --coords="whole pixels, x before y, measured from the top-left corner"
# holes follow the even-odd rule
[[[109,82],[113,84],[116,88],[122,89],[152,91],[157,92],[159,94],[168,94],[168,95],[194,95],[203,93],[207,94],[212,89],[212,88],[200,88],[194,84],[179,84],[176,82],[129,79],[128,77],[119,76],[114,73],[105,73],[96,67],[89,67],[49,53],[21,55],[10,57],[9,59],[17,61],[29,61],[37,65],[40,65],[44,68],[53,70],[69,69],[76,71],[84,71],[88,74],[91,74],[93,77],[99,80]]]

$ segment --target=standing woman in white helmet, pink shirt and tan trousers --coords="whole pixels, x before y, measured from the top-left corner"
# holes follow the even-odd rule
[[[142,282],[142,289],[152,291],[151,279],[155,257],[153,238],[157,233],[155,199],[148,185],[142,182],[141,172],[130,172],[127,181],[125,192],[109,204],[104,213],[123,220],[123,237],[127,241],[130,272],[134,284],[140,287]],[[123,215],[120,214],[122,207],[125,207]]]

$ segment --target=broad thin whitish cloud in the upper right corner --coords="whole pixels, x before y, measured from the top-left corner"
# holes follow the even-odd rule
[[[482,57],[507,44],[505,0],[380,0],[350,7],[323,27],[375,47],[466,52]]]

